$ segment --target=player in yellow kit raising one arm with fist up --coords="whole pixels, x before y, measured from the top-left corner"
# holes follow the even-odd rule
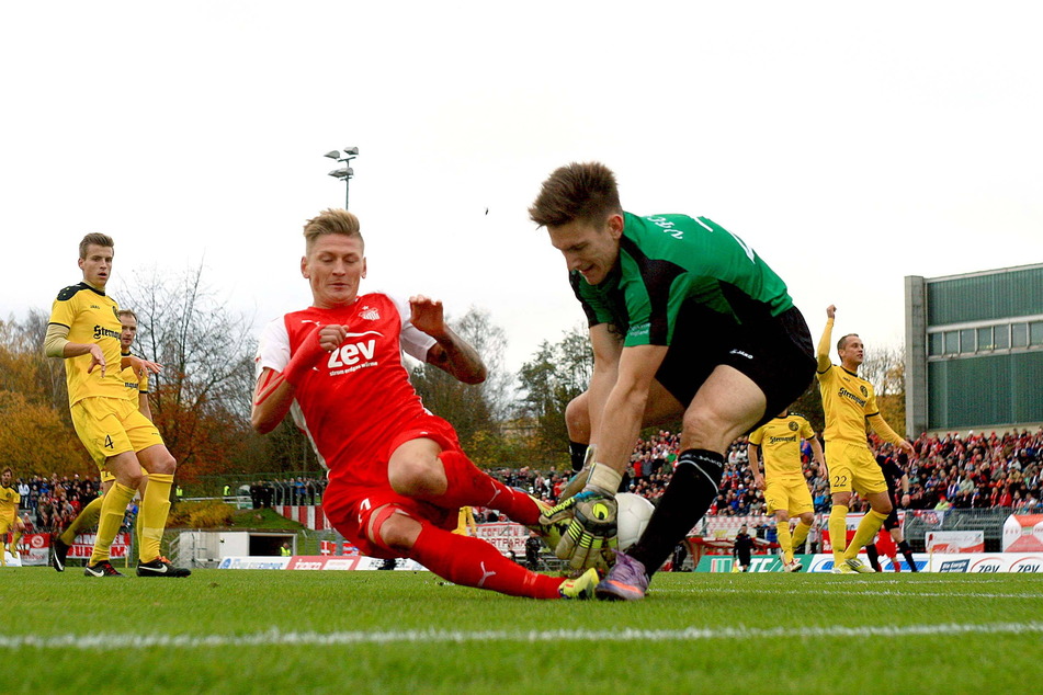
[[[891,513],[892,503],[887,494],[887,483],[865,438],[866,424],[886,442],[891,442],[907,454],[912,454],[912,445],[903,440],[887,424],[876,407],[873,385],[858,374],[864,357],[862,340],[855,333],[849,333],[837,341],[840,365],[829,360],[829,344],[832,341],[832,326],[837,307],[826,308],[826,330],[818,343],[818,387],[823,395],[823,410],[826,413],[826,462],[829,465],[829,492],[832,495],[832,510],[829,513],[829,537],[832,542],[834,572],[872,572],[873,569],[858,559],[862,546],[872,542],[881,525]],[[848,506],[851,492],[855,491],[869,501],[872,508],[858,529],[850,545],[847,542]]]

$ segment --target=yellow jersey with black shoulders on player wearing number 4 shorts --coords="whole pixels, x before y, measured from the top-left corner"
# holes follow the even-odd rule
[[[116,311],[116,300],[87,283],[66,287],[58,293],[50,308],[50,323],[66,326],[68,340],[73,343],[97,343],[105,356],[105,376],[100,368],[90,374],[87,368],[91,356],[79,355],[65,360],[66,381],[69,386],[69,405],[80,399],[101,396],[125,398],[126,390],[120,369],[120,331],[122,326]]]

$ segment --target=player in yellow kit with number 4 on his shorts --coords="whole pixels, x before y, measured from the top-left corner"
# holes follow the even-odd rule
[[[44,352],[65,360],[72,424],[100,470],[115,477],[103,498],[101,519],[88,577],[122,577],[109,561],[123,515],[140,485],[141,468],[149,486],[141,501],[143,542],[138,577],[188,577],[160,556],[170,488],[178,464],[148,418],[126,398],[121,372],[132,366],[137,374],[158,373],[160,365],[138,357],[121,356],[118,305],[105,294],[112,273],[113,241],[90,233],[80,241],[79,266],[83,282],[58,293],[50,310]]]

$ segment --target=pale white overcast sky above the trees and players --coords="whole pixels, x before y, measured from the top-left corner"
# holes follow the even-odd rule
[[[525,212],[570,161],[742,237],[816,338],[832,303],[897,345],[904,276],[1043,261],[1038,7],[5,3],[0,317],[49,311],[102,231],[117,299],[202,261],[260,330],[309,303],[322,155],[358,146],[365,287],[488,309],[511,369],[581,322]]]

